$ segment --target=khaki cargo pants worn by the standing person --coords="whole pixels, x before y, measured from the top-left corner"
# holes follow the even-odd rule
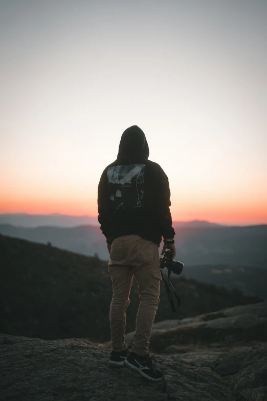
[[[160,302],[159,245],[138,235],[127,235],[112,242],[108,271],[112,279],[113,296],[109,319],[113,351],[127,348],[124,341],[126,308],[133,276],[138,287],[140,304],[132,351],[139,355],[148,353],[151,330]]]

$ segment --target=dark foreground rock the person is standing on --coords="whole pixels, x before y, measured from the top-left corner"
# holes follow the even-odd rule
[[[109,350],[84,339],[46,341],[0,335],[0,400],[234,401],[220,376],[174,356],[158,356],[164,380],[108,366]]]

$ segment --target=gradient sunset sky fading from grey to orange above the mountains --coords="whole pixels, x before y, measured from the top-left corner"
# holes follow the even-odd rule
[[[173,220],[267,223],[265,0],[0,5],[0,213],[97,215],[137,124]]]

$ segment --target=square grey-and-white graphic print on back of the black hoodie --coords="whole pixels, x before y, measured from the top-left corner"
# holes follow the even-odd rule
[[[145,164],[124,164],[107,170],[108,195],[112,209],[142,207]]]

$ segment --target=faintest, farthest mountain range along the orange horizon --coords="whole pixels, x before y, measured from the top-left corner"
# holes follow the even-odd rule
[[[74,227],[77,225],[97,225],[97,217],[94,216],[69,216],[59,213],[50,215],[31,215],[28,213],[0,214],[0,224],[11,224],[22,227],[38,227],[42,225]],[[205,220],[176,221],[174,224],[179,227],[223,227],[223,225],[210,223]]]

